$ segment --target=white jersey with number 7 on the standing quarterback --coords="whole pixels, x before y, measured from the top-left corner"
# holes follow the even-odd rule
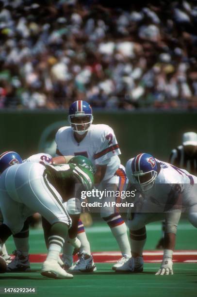
[[[114,176],[120,166],[121,154],[115,133],[108,125],[91,125],[83,140],[78,143],[71,127],[62,127],[56,133],[57,155],[82,155],[96,165],[107,165],[103,181]]]

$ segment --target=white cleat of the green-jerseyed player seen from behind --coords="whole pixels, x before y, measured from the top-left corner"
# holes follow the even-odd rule
[[[41,275],[52,279],[72,279],[73,275],[67,273],[56,262],[45,261],[42,265]]]

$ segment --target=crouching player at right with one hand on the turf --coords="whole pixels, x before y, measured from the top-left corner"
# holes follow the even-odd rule
[[[156,275],[173,274],[172,255],[181,210],[189,212],[188,218],[197,228],[197,177],[147,153],[131,158],[126,173],[130,186],[137,191],[136,212],[128,220],[132,257],[116,271],[143,271],[146,224],[165,218],[164,256]]]

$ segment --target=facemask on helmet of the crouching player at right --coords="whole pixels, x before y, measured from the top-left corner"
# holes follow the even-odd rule
[[[143,191],[147,191],[153,187],[158,173],[155,170],[151,170],[146,173],[144,173],[143,171],[135,171],[132,175],[140,184],[141,189]]]

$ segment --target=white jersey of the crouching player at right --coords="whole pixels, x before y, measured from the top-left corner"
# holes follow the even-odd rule
[[[131,158],[126,164],[126,174],[136,189],[140,191],[137,180],[132,176]],[[188,171],[180,169],[169,163],[157,160],[161,169],[157,175],[154,185],[147,191],[142,193],[144,201],[143,209],[145,212],[162,212],[174,209],[174,205],[178,208],[181,205],[191,205],[192,200],[196,203],[195,189],[197,186],[197,177],[191,175]],[[181,194],[181,200],[178,200]],[[152,203],[152,204],[151,204]],[[157,205],[155,208],[153,205]]]

